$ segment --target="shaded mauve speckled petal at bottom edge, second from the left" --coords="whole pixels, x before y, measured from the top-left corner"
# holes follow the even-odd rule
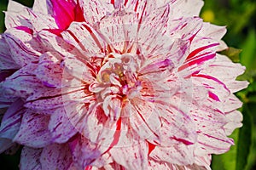
[[[40,156],[41,166],[45,170],[67,169],[73,162],[67,144],[51,144],[44,147]]]

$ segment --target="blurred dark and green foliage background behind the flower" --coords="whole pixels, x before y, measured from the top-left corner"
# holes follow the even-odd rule
[[[32,0],[16,0],[32,7]],[[5,11],[8,0],[0,0],[0,11]],[[192,7],[193,8],[193,7]],[[201,18],[218,26],[227,26],[224,41],[230,47],[222,52],[234,62],[240,62],[247,71],[239,80],[247,80],[247,89],[237,93],[244,103],[243,127],[230,136],[236,145],[230,151],[212,156],[213,170],[254,170],[256,169],[256,1],[255,0],[205,0]],[[4,14],[0,13],[0,32],[4,28]],[[20,150],[15,155],[0,155],[0,169],[19,169]]]

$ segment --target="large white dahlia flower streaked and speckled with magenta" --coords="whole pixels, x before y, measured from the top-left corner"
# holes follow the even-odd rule
[[[20,169],[211,169],[241,127],[245,68],[201,0],[9,1],[0,152]]]

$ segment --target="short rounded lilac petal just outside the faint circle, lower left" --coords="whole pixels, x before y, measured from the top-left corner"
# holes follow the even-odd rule
[[[65,143],[71,139],[78,131],[69,121],[67,113],[64,108],[56,109],[50,116],[49,131],[55,143]]]

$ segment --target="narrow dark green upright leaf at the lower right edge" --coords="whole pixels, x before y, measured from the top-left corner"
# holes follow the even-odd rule
[[[244,170],[247,166],[247,157],[252,144],[252,119],[247,104],[243,107],[243,126],[239,130],[236,170]]]

